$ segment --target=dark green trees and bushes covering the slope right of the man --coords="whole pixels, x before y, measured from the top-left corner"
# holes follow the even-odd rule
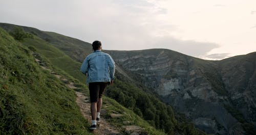
[[[119,73],[115,84],[107,88],[106,95],[167,134],[204,134],[171,106],[162,103],[153,94],[142,91]]]

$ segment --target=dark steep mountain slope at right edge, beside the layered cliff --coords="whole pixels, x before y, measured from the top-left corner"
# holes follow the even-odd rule
[[[231,101],[231,112],[243,123],[256,125],[256,52],[218,61],[219,71]],[[250,125],[245,125],[247,127]],[[249,129],[247,129],[249,130]]]

